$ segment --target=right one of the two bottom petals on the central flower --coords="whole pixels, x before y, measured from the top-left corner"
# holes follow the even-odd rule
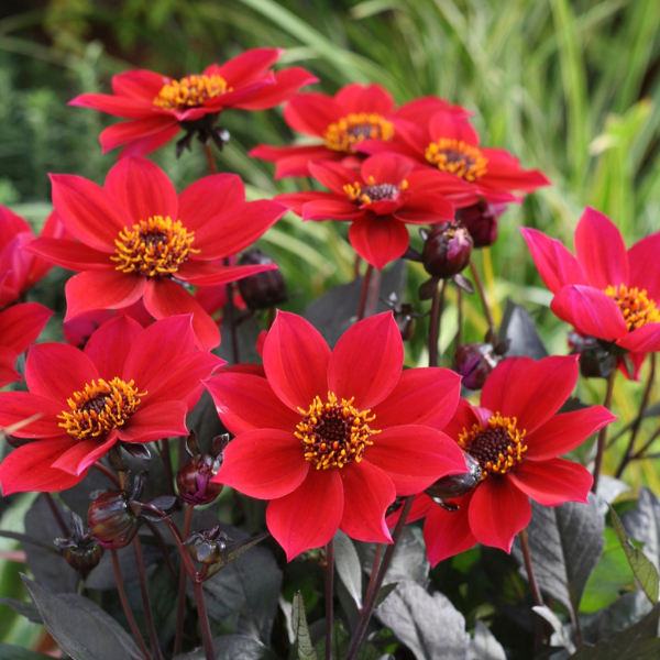
[[[351,463],[339,474],[345,503],[341,530],[356,541],[392,542],[385,522],[385,512],[396,498],[391,479],[366,461]]]

